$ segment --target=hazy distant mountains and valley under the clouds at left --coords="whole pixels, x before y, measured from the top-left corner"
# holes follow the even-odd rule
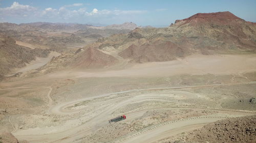
[[[52,51],[63,52],[67,48],[82,47],[101,37],[129,33],[122,28],[104,28],[76,23],[0,23],[0,32],[29,44],[41,45]]]

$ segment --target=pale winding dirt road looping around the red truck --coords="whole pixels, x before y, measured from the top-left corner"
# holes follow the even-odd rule
[[[80,124],[79,126],[72,127],[68,130],[56,131],[52,133],[42,132],[40,130],[36,131],[33,129],[27,130],[17,130],[13,134],[18,139],[26,139],[30,142],[74,142],[74,140],[80,139],[86,135],[90,135],[94,133],[102,126],[106,126],[108,124],[108,119],[113,117],[113,112],[116,110],[125,107],[131,103],[139,103],[148,100],[156,100],[156,101],[164,101],[163,98],[177,98],[172,97],[172,94],[154,94],[154,91],[161,90],[179,90],[179,89],[192,89],[192,88],[205,88],[205,87],[218,87],[223,85],[234,85],[234,84],[254,84],[253,82],[241,82],[241,83],[227,83],[227,84],[209,84],[209,85],[194,85],[194,86],[186,86],[186,87],[170,87],[170,88],[151,88],[151,89],[136,89],[129,91],[116,92],[111,94],[104,94],[99,96],[94,96],[90,98],[83,98],[75,101],[61,103],[59,105],[52,106],[51,99],[51,87],[18,87],[18,88],[48,88],[49,92],[47,97],[49,98],[49,113],[55,115],[71,115],[74,116],[76,114],[81,113],[85,108],[91,109],[89,112],[83,112],[86,117],[90,116],[90,119]],[[15,88],[10,88],[15,89]],[[3,89],[1,89],[3,90]],[[145,91],[151,91],[150,93],[143,93]],[[132,95],[123,95],[127,93],[133,92],[141,92]],[[152,93],[153,92],[153,93]],[[172,91],[169,91],[172,92]],[[175,91],[177,92],[177,91]],[[179,98],[190,98],[197,97],[197,94],[187,94],[185,97]],[[75,107],[75,104],[81,103],[83,101],[94,101],[92,103],[88,103],[88,106],[82,108],[69,108]],[[156,108],[157,109],[157,108]],[[191,108],[195,109],[195,108]],[[202,109],[198,109],[202,110]],[[204,109],[207,110],[207,109]],[[208,109],[208,110],[218,110],[218,109]],[[245,111],[237,111],[237,110],[218,110],[222,113],[228,113],[233,115],[253,115],[254,112],[245,112]],[[145,111],[143,110],[134,110],[131,112],[127,112],[126,116],[129,117],[129,120],[139,118],[143,115]],[[231,117],[231,116],[230,116]],[[162,123],[156,127],[152,127],[148,130],[142,130],[138,133],[131,134],[123,139],[116,140],[117,142],[148,142],[155,141],[170,135],[175,135],[180,132],[193,130],[202,127],[203,125],[215,122],[217,120],[222,120],[223,117],[203,117],[203,118],[192,118],[186,120],[172,121],[168,123]],[[125,122],[125,121],[124,121]],[[33,134],[31,134],[33,132]],[[148,136],[148,137],[146,137]]]

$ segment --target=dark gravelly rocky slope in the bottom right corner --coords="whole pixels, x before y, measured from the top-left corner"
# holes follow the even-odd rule
[[[205,125],[203,128],[189,132],[176,141],[163,142],[256,142],[256,115],[232,118]]]

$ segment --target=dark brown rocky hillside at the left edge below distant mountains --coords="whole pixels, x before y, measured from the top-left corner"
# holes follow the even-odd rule
[[[10,72],[13,68],[26,66],[37,57],[47,57],[50,53],[47,49],[30,49],[19,46],[11,37],[0,35],[0,77]]]

